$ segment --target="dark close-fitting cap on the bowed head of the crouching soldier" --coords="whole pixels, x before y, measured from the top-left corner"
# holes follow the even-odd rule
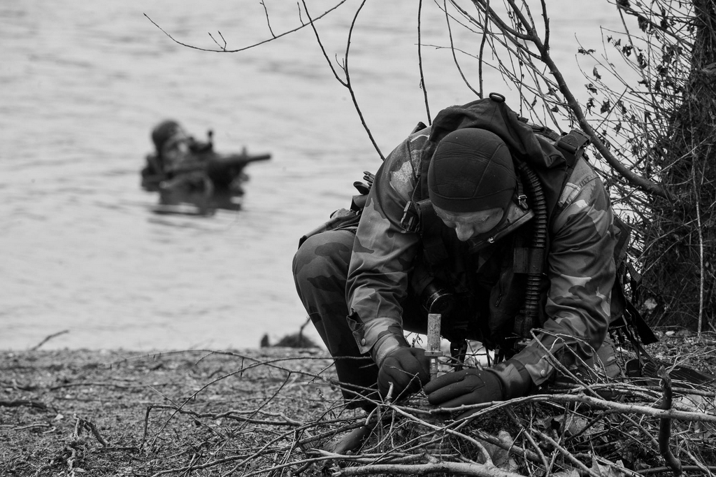
[[[450,212],[506,210],[516,184],[507,145],[495,133],[475,127],[442,138],[427,170],[430,201]]]

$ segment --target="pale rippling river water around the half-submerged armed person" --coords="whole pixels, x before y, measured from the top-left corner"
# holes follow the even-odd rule
[[[309,2],[311,15],[332,3]],[[575,33],[599,45],[598,26],[616,18],[603,3],[585,20],[581,2],[548,1],[553,54],[580,89]],[[347,206],[353,181],[380,161],[349,92],[309,28],[237,53],[162,32],[239,49],[299,26],[296,3],[263,4],[268,19],[258,1],[0,4],[0,349],[59,332],[43,347],[243,348],[304,324],[297,240]],[[316,22],[332,59],[358,5]],[[349,72],[384,154],[427,122],[416,16],[415,1],[369,1],[354,30]],[[424,44],[449,44],[435,4],[422,19]],[[475,34],[453,34],[476,50]],[[422,62],[432,116],[475,99],[448,49],[425,47]],[[495,74],[486,84],[513,94]],[[166,117],[198,138],[213,130],[219,152],[271,153],[246,169],[241,211],[153,213],[138,171]]]

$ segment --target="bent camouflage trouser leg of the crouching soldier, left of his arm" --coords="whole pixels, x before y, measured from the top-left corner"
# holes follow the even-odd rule
[[[373,360],[358,350],[347,322],[346,277],[354,238],[349,230],[318,233],[301,244],[293,263],[296,291],[334,357],[347,400],[374,395],[378,376]]]

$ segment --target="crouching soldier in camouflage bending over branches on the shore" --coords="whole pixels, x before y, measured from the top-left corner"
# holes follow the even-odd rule
[[[500,95],[450,107],[385,159],[357,224],[302,242],[296,289],[351,407],[421,389],[443,407],[507,400],[561,366],[619,374],[614,216],[576,150],[536,135]],[[476,339],[498,359],[429,382],[425,350],[405,338],[429,312],[454,350]]]

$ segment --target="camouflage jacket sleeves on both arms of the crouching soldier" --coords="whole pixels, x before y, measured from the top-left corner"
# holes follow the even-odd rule
[[[378,365],[388,352],[406,344],[400,303],[407,296],[421,237],[405,231],[400,221],[419,186],[417,172],[429,134],[430,128],[413,133],[386,158],[357,228],[347,282],[349,326],[361,352],[370,353]],[[606,337],[614,284],[611,205],[586,160],[577,161],[555,210],[548,230],[545,320],[536,339],[513,357],[536,385],[555,370],[546,350],[572,356],[574,362],[574,356],[588,360],[599,348]],[[561,352],[564,347],[574,353]]]

